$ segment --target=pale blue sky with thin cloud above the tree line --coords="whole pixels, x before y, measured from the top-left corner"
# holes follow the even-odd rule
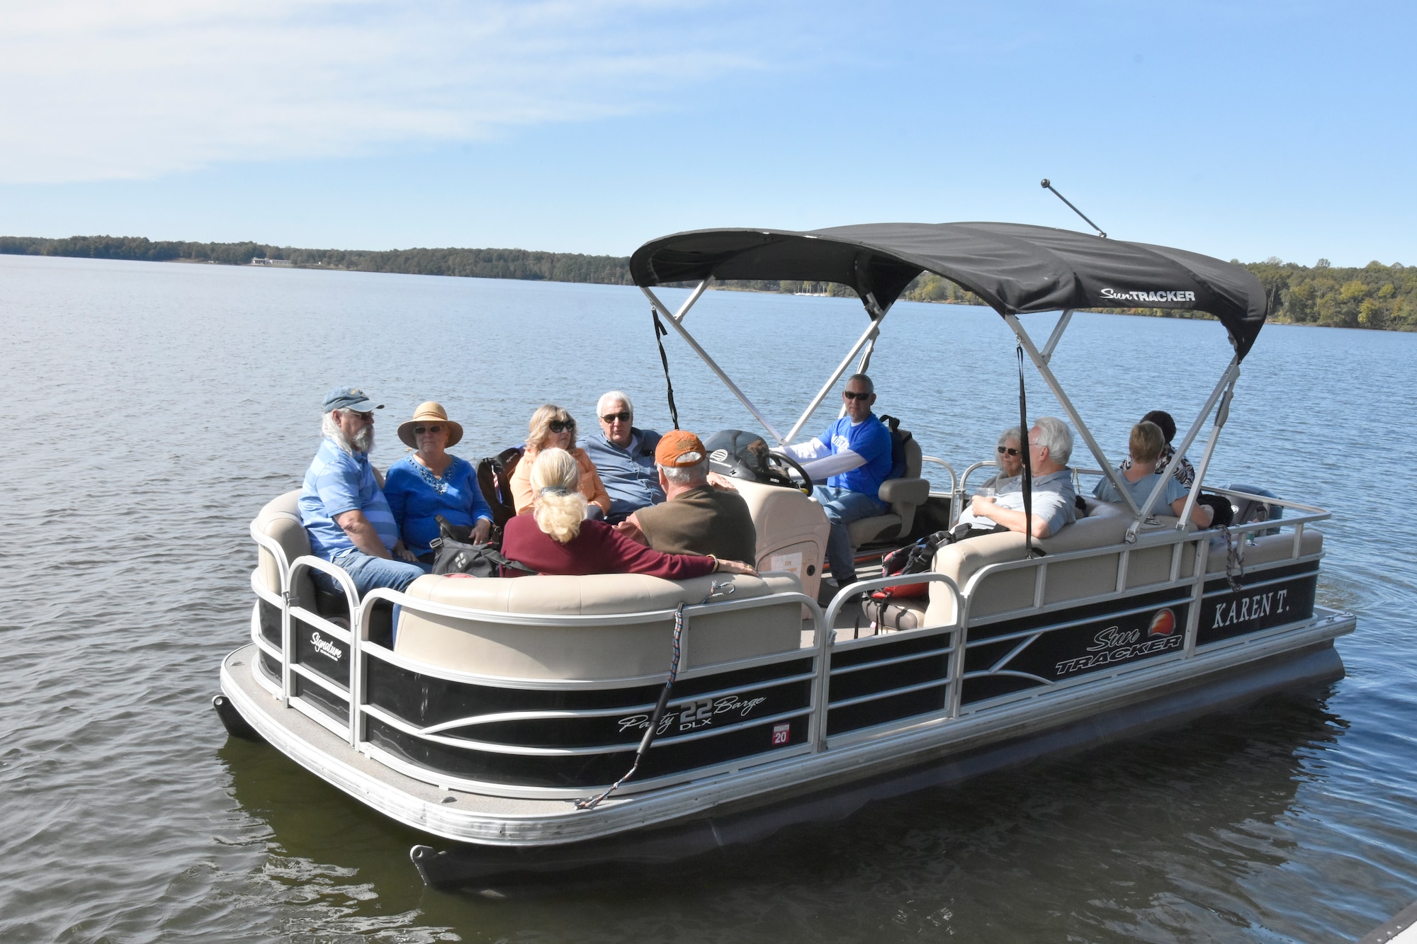
[[[1380,3],[52,0],[0,13],[0,232],[628,254],[1007,220],[1417,264]]]

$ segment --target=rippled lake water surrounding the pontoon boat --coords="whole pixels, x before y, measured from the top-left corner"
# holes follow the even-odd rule
[[[687,325],[785,429],[864,318],[710,292]],[[666,343],[684,427],[754,428]],[[1414,335],[1267,327],[1209,478],[1338,513],[1319,602],[1359,629],[1328,692],[506,900],[425,889],[415,833],[227,740],[210,699],[248,638],[247,524],[298,486],[339,384],[388,404],[380,465],[431,398],[470,458],[519,442],[544,401],[592,424],[609,387],[667,427],[639,291],[0,257],[0,344],[7,943],[1342,941],[1417,899]],[[1017,420],[1013,357],[989,310],[901,303],[877,411],[962,468]],[[1121,454],[1146,410],[1185,429],[1227,357],[1213,322],[1078,315],[1054,367]],[[1030,374],[1030,412],[1049,411]]]

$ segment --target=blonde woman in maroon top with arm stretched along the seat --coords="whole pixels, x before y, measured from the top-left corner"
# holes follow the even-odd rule
[[[605,522],[585,520],[581,469],[565,449],[543,449],[531,466],[531,515],[506,524],[502,553],[540,574],[649,574],[665,580],[714,571],[752,574],[748,564],[699,554],[663,554],[625,537]]]

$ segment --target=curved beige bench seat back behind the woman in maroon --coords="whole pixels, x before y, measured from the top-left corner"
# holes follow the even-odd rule
[[[669,669],[673,615],[649,622],[575,625],[577,617],[636,614],[697,604],[714,581],[731,580],[724,601],[801,592],[794,574],[711,574],[670,581],[645,574],[585,577],[419,577],[408,595],[489,614],[444,617],[402,609],[394,652],[441,669],[517,679],[623,679]],[[506,619],[499,618],[506,614]],[[565,617],[560,624],[517,617]],[[689,619],[683,669],[795,651],[802,645],[802,602],[765,604]]]

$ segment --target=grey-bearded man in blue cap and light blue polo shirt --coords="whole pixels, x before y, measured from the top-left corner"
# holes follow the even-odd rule
[[[419,564],[394,560],[390,553],[398,543],[398,526],[368,463],[374,411],[383,408],[359,387],[327,393],[320,424],[324,442],[300,489],[300,523],[310,536],[312,553],[343,567],[361,597],[376,587],[404,590],[428,573]],[[339,592],[326,574],[313,577],[326,590]]]

